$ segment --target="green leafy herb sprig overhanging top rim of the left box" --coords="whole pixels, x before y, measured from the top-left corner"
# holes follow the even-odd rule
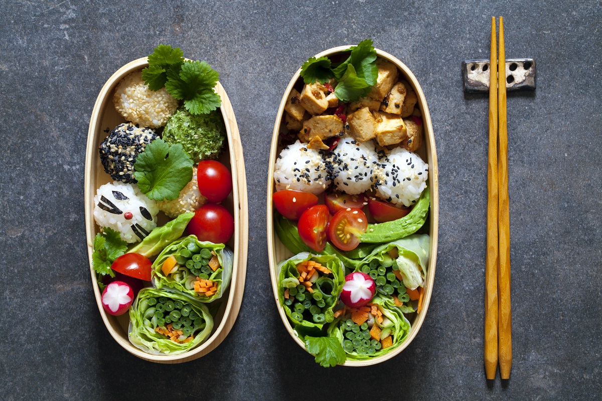
[[[219,73],[205,61],[184,60],[184,53],[169,44],[160,44],[149,55],[149,66],[142,70],[142,79],[153,91],[165,87],[167,93],[184,100],[190,114],[209,114],[221,104],[213,87]]]

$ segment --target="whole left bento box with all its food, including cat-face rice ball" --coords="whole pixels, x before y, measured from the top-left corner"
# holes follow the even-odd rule
[[[247,262],[243,150],[219,73],[159,45],[96,100],[85,162],[90,273],[131,354],[202,357],[234,325]]]

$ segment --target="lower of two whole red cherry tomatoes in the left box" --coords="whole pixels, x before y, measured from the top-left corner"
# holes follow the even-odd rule
[[[234,234],[234,217],[220,204],[205,204],[194,212],[188,234],[196,235],[199,241],[226,243]]]

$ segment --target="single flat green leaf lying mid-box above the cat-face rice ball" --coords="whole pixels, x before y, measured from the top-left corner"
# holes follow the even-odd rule
[[[181,144],[155,139],[134,164],[138,188],[152,200],[174,200],[192,179],[193,161]]]

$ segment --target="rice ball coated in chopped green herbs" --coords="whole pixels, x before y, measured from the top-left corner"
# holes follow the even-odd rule
[[[185,108],[167,120],[163,139],[169,144],[181,144],[194,162],[216,159],[226,137],[226,126],[219,110],[209,114],[191,115]]]

